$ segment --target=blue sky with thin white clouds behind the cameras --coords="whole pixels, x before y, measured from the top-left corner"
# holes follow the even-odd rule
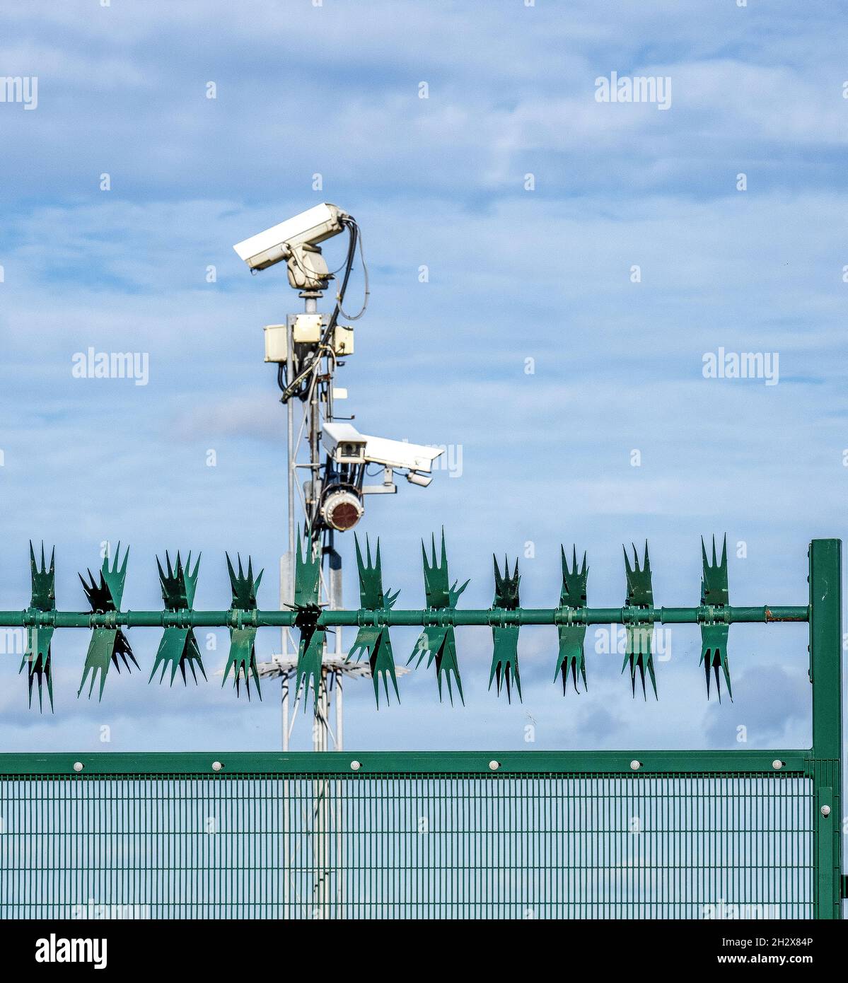
[[[423,603],[419,543],[442,524],[468,606],[491,603],[493,550],[521,555],[525,605],[553,605],[560,543],[587,549],[590,603],[619,605],[621,544],[646,538],[657,602],[694,604],[699,538],[725,531],[734,603],[805,603],[807,545],[840,535],[848,482],[846,32],[832,5],[763,0],[7,6],[0,76],[36,76],[38,100],[0,103],[0,608],[28,600],[29,538],[56,544],[59,607],[83,606],[77,571],[119,539],[127,607],[159,607],[166,548],[202,549],[198,607],[228,604],[224,549],[266,568],[275,606],[284,416],[261,326],[299,302],[232,244],[321,201],[359,220],[371,277],[348,408],[366,433],[462,448],[461,476],[368,503],[400,606]],[[670,107],[596,101],[612,72],[667,77]],[[73,377],[89,346],[147,353],[149,383]],[[778,353],[778,383],[705,378],[719,347]],[[393,637],[404,663],[415,632]],[[278,747],[277,686],[250,705],[214,676],[148,686],[156,633],[131,640],[141,673],[110,673],[97,705],[76,697],[85,633],[60,633],[53,717],[8,657],[0,746]],[[592,645],[589,692],[563,698],[538,628],[507,706],[485,689],[488,632],[458,644],[465,709],[424,669],[400,708],[352,686],[347,744],[809,742],[800,626],[733,628],[720,706],[694,628],[647,704]],[[259,633],[259,658],[276,648]],[[221,633],[210,674],[225,656]]]

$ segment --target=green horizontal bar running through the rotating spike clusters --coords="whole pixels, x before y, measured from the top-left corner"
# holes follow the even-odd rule
[[[0,611],[6,628],[287,628],[296,623],[294,610],[160,610],[160,611]],[[532,624],[736,624],[808,621],[810,607],[519,607],[422,608],[393,610],[322,610],[320,627],[387,625],[532,625]]]

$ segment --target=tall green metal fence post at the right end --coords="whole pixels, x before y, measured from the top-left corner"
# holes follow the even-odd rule
[[[842,542],[810,544],[815,917],[841,918]]]

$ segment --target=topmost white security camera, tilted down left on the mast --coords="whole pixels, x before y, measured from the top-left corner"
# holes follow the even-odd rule
[[[266,269],[286,260],[289,283],[296,290],[326,290],[330,272],[318,243],[342,232],[349,218],[341,208],[323,202],[237,243],[233,249],[251,269]]]

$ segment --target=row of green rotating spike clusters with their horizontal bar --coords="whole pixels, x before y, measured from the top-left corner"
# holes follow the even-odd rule
[[[176,559],[165,552],[165,562],[156,558],[159,584],[162,592],[161,611],[122,610],[124,585],[127,578],[129,549],[121,553],[120,544],[114,558],[103,560],[97,577],[90,570],[87,578],[80,580],[88,602],[87,611],[57,610],[55,550],[51,550],[49,564],[46,551],[41,546],[36,557],[29,544],[29,569],[31,595],[29,606],[23,611],[0,611],[0,628],[19,628],[26,631],[26,648],[19,671],[27,669],[28,703],[32,706],[33,690],[37,688],[38,708],[49,702],[53,709],[53,641],[57,628],[89,628],[91,638],[85,655],[83,677],[78,696],[88,684],[86,696],[90,699],[97,687],[97,697],[102,698],[106,676],[114,665],[130,669],[139,663],[130,646],[125,629],[130,627],[160,626],[163,634],[153,659],[148,681],[158,677],[161,683],[167,674],[173,684],[179,670],[183,682],[187,682],[187,670],[198,682],[200,675],[206,678],[195,628],[226,627],[230,632],[230,648],[223,669],[222,685],[232,678],[236,695],[243,688],[248,698],[251,689],[261,699],[259,671],[256,665],[256,632],[262,627],[294,627],[300,632],[297,665],[295,667],[297,692],[310,690],[315,701],[320,695],[322,663],[327,631],[335,626],[356,626],[358,633],[347,659],[367,660],[371,675],[374,699],[380,702],[380,680],[386,701],[390,701],[391,689],[400,699],[397,669],[389,638],[391,625],[420,626],[421,633],[409,664],[417,667],[435,667],[439,700],[447,689],[448,699],[454,702],[454,693],[465,703],[465,691],[457,658],[455,627],[457,625],[485,625],[492,632],[492,659],[488,676],[488,688],[494,684],[495,693],[506,691],[507,700],[515,692],[521,700],[522,686],[519,670],[519,631],[522,625],[553,625],[557,629],[558,652],[554,679],[561,680],[563,693],[571,679],[575,691],[587,686],[586,633],[591,624],[608,622],[625,626],[625,654],[622,672],[629,668],[631,693],[636,695],[637,681],[642,685],[647,699],[650,686],[657,695],[656,678],[651,652],[651,635],[655,623],[698,624],[701,628],[701,665],[707,681],[707,699],[712,682],[721,699],[721,679],[728,696],[733,698],[727,656],[727,640],[730,625],[734,622],[809,621],[810,605],[800,607],[731,607],[727,576],[727,543],[722,542],[720,557],[715,538],[707,553],[702,539],[701,553],[703,575],[701,603],[699,607],[654,607],[648,544],[642,559],[636,547],[632,558],[625,549],[625,575],[627,597],[623,607],[588,607],[587,583],[589,567],[586,553],[578,560],[576,547],[571,558],[560,548],[562,582],[557,607],[522,608],[520,601],[521,575],[518,560],[510,569],[509,560],[503,569],[496,558],[494,567],[494,599],[488,608],[463,610],[457,607],[459,598],[468,587],[461,586],[448,575],[447,548],[444,531],[437,546],[435,536],[430,539],[427,551],[422,542],[424,561],[424,596],[426,607],[414,610],[395,610],[399,592],[383,589],[380,544],[372,552],[366,539],[365,555],[358,539],[356,543],[357,568],[360,582],[360,607],[357,610],[326,610],[320,601],[320,551],[312,542],[308,530],[298,536],[296,558],[294,604],[285,610],[260,610],[256,592],[262,579],[259,571],[254,576],[253,560],[248,557],[247,568],[241,556],[236,565],[226,557],[230,577],[232,600],[227,610],[198,611],[195,596],[198,585],[199,557],[192,562],[190,553],[186,562],[177,552]],[[7,633],[8,636],[8,633]],[[22,650],[19,650],[22,651]],[[391,681],[391,686],[389,682]],[[46,689],[47,700],[44,700]],[[304,701],[305,706],[307,701]]]

